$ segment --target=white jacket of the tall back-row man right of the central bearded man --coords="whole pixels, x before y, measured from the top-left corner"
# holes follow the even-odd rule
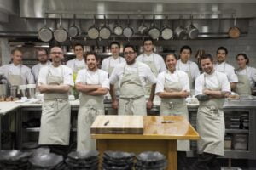
[[[153,59],[154,58],[154,59]],[[150,55],[147,54],[140,54],[136,58],[137,61],[154,61],[154,65],[157,69],[157,71],[160,73],[162,71],[166,71],[166,64],[162,56],[159,54],[152,53]]]

